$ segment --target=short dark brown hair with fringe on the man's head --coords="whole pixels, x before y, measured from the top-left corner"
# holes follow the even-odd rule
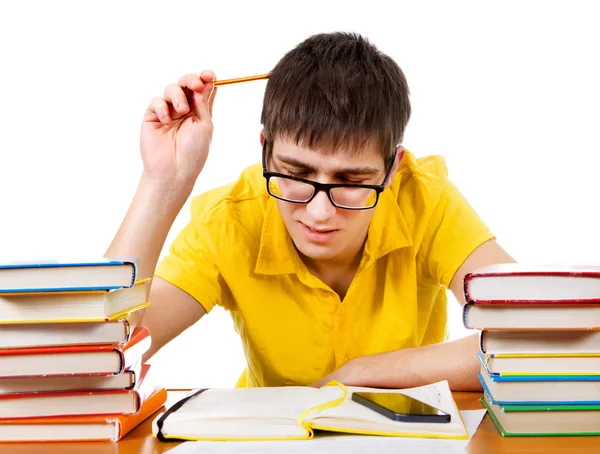
[[[280,137],[316,149],[360,152],[376,141],[384,159],[401,143],[409,90],[398,64],[355,33],[309,37],[277,63],[261,122]]]

